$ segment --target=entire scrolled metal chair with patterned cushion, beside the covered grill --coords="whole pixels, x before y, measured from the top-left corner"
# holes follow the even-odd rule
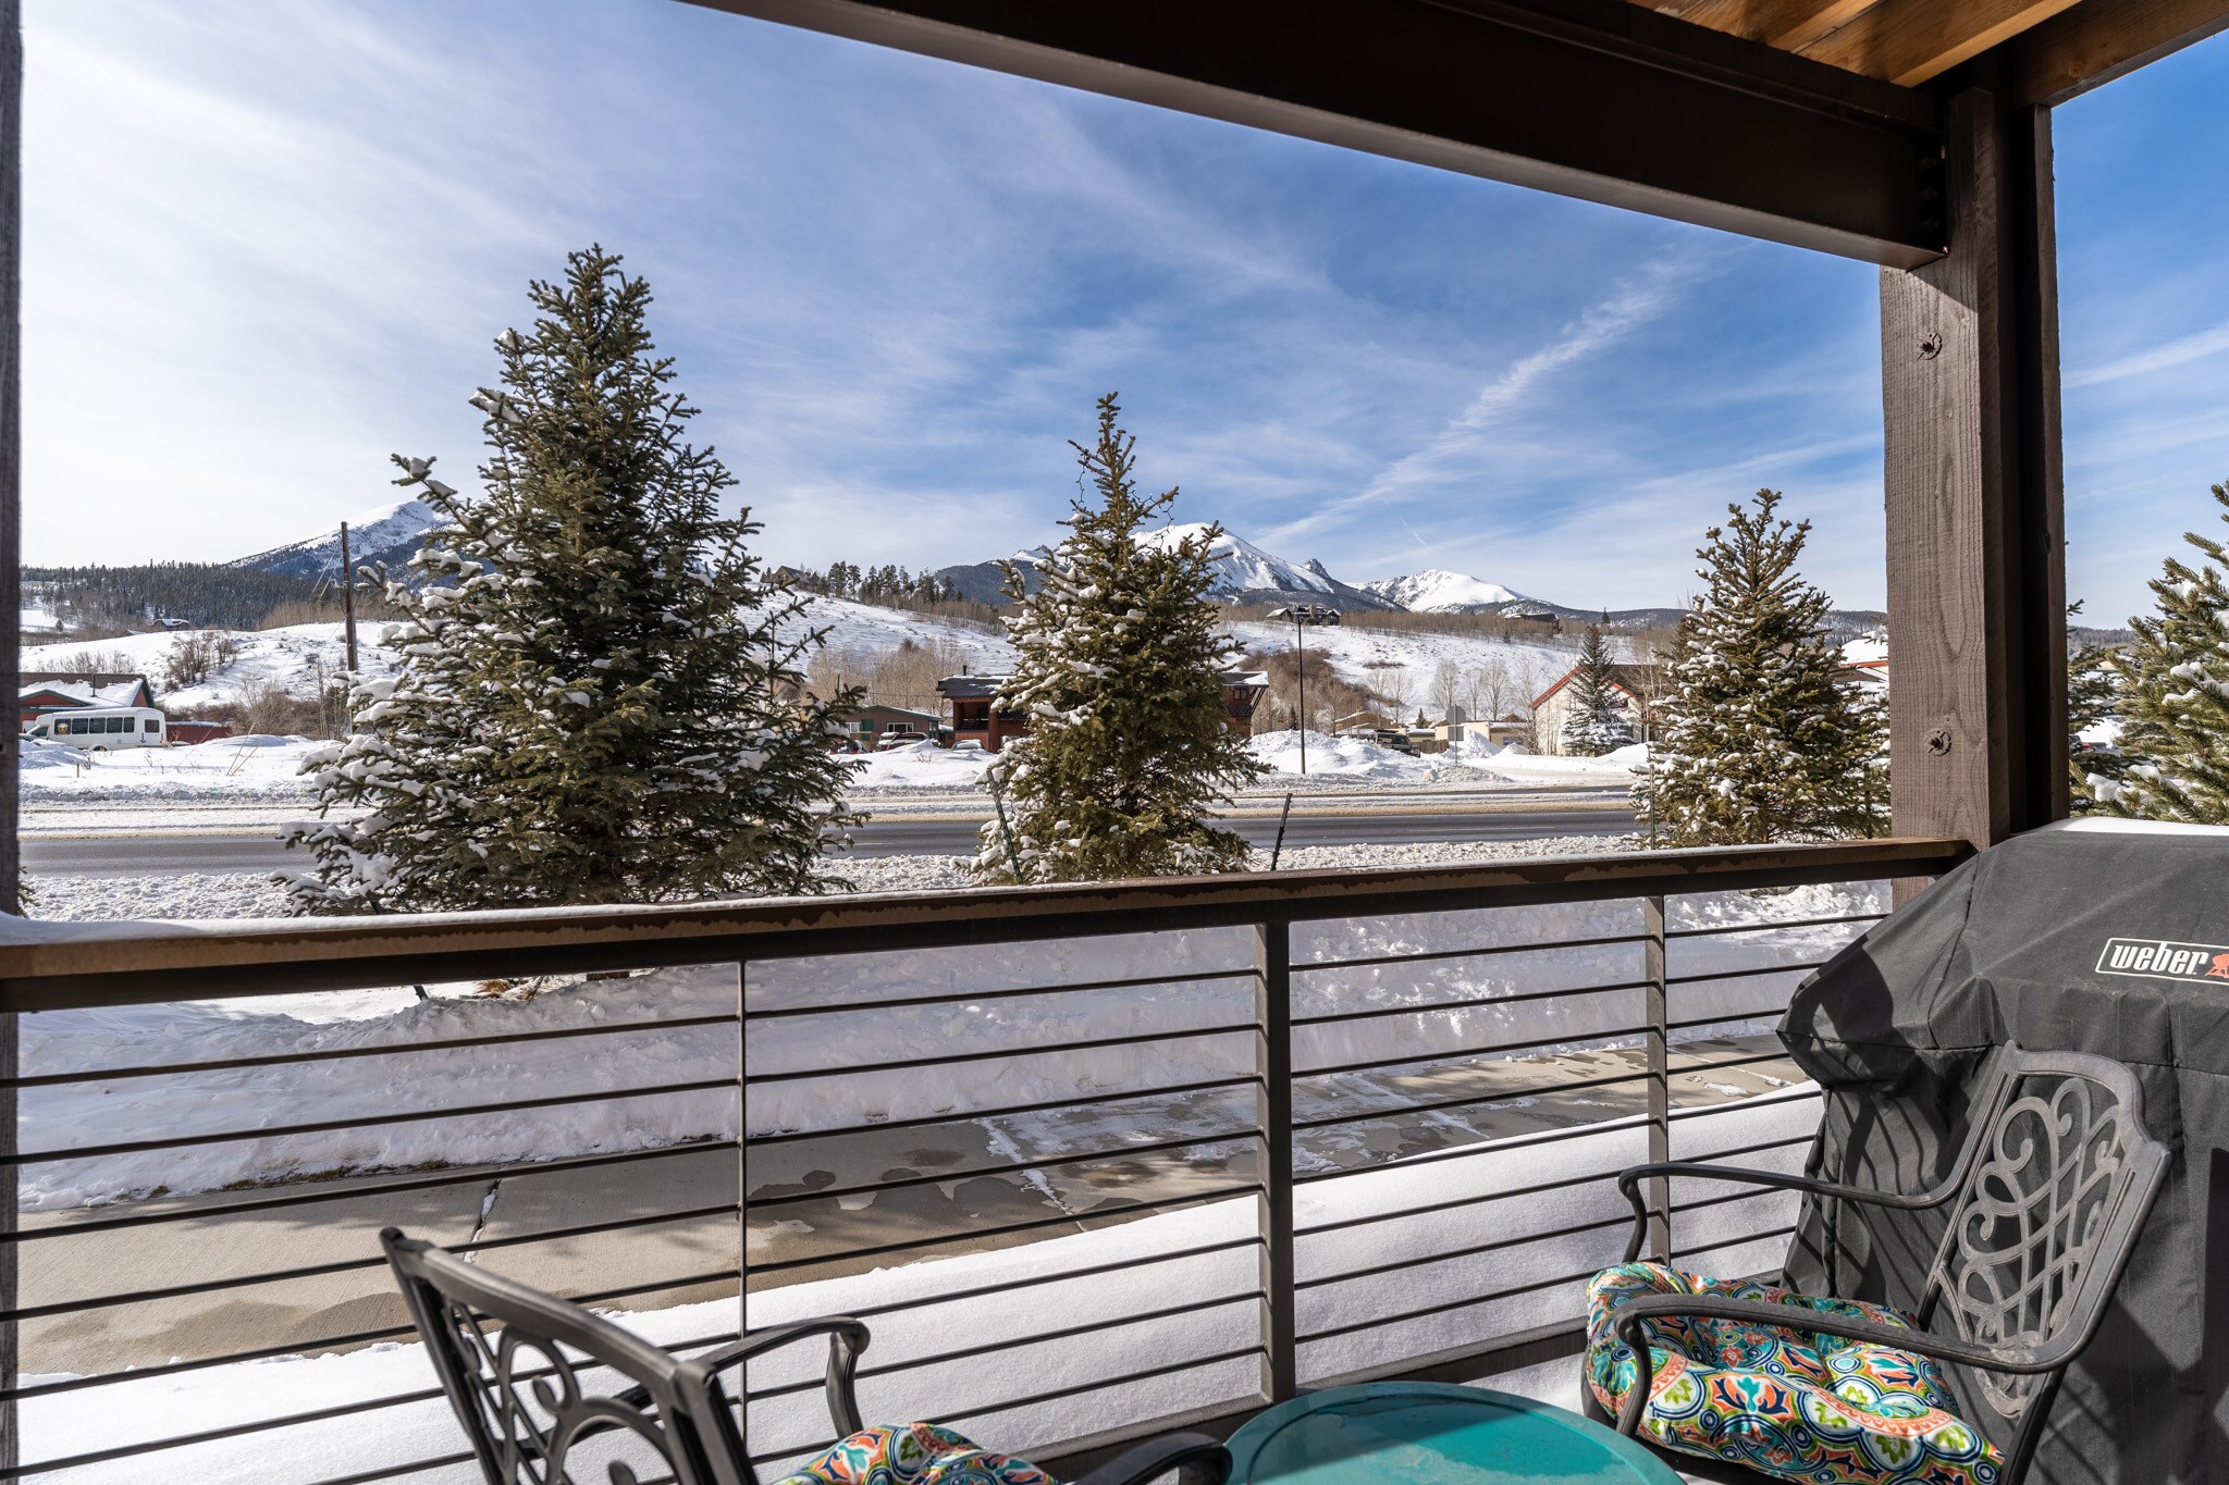
[[[1986,1461],[1990,1452],[1997,1458],[1988,1469],[1975,1467],[1973,1478],[2019,1485],[2069,1363],[2097,1334],[2144,1218],[2158,1200],[2167,1162],[2167,1147],[2144,1129],[2142,1091],[2126,1066],[2086,1053],[2031,1053],[2004,1046],[1993,1053],[1977,1080],[1968,1135],[1950,1173],[1930,1191],[1901,1196],[1805,1176],[1694,1162],[1632,1167],[1618,1176],[1618,1189],[1632,1202],[1634,1229],[1625,1245],[1625,1265],[1605,1269],[1592,1287],[1594,1325],[1585,1385],[1594,1394],[1592,1400],[1600,1403],[1603,1371],[1632,1363],[1632,1383],[1616,1396],[1616,1427],[1632,1436],[1641,1432],[1652,1409],[1670,1412],[1652,1396],[1654,1351],[1667,1349],[1667,1336],[1685,1334],[1692,1347],[1716,1345],[1725,1354],[1741,1351],[1743,1345],[1770,1345],[1772,1334],[1779,1334],[1814,1351],[1812,1360],[1830,1351],[1841,1356],[1841,1349],[1819,1345],[1819,1338],[1837,1338],[1857,1343],[1837,1365],[1863,1371],[1866,1385],[1875,1376],[1866,1371],[1868,1356],[1886,1356],[1886,1371],[1901,1374],[1892,1378],[1890,1389],[1908,1385],[1908,1407],[1904,1414],[1884,1416],[1892,1418],[1888,1438],[1899,1434],[1897,1425],[1908,1438],[1910,1418],[1921,1407],[1928,1416],[1948,1416],[1950,1425],[1973,1429],[1939,1407],[1948,1391],[1939,1385],[1933,1363],[1917,1358],[1948,1360],[1970,1369],[1979,1398],[1995,1409],[2002,1429],[2011,1432],[2008,1447],[1997,1449],[1975,1429],[1968,1440],[1968,1463]],[[1904,1316],[1886,1307],[1812,1300],[1763,1285],[1698,1280],[1658,1265],[1636,1265],[1649,1216],[1643,1182],[1656,1178],[1777,1187],[1897,1211],[1948,1209],[1948,1220],[1919,1307]],[[1649,1282],[1674,1291],[1647,1291]],[[1930,1331],[1937,1316],[1946,1320],[1948,1336]],[[1716,1331],[1694,1322],[1725,1322],[1732,1329]],[[1866,1354],[1863,1347],[1875,1351]],[[1670,1354],[1685,1363],[1676,1349]],[[1810,1403],[1797,1398],[1799,1389],[1788,1380],[1803,1367],[1781,1363],[1785,1356],[1772,1356],[1756,1376],[1768,1383],[1779,1380],[1788,1391],[1783,1400],[1799,1414],[1803,1407],[1837,1412],[1826,1398]],[[1705,1365],[1716,1363],[1705,1360]],[[1665,1383],[1672,1385],[1676,1383]],[[1826,1385],[1817,1389],[1841,1396]],[[1937,1400],[1921,1405],[1912,1398]],[[1683,1403],[1701,1407],[1692,1398]],[[1723,1418],[1696,1418],[1698,1414],[1690,1414],[1692,1432],[1681,1443],[1676,1425],[1658,1416],[1652,1427],[1654,1440],[1687,1454],[1705,1454],[1696,1447],[1701,1438],[1712,1432],[1719,1438],[1736,1434],[1723,1427]],[[1785,1452],[1790,1440],[1803,1438],[1817,1445],[1841,1420],[1803,1414],[1799,1423],[1801,1427],[1781,1432],[1772,1447]],[[1759,1438],[1772,1432],[1770,1420],[1754,1429]],[[1739,1447],[1745,1445],[1730,1445]],[[1892,1454],[1895,1447],[1901,1445],[1875,1447],[1870,1454],[1852,1449],[1832,1467],[1819,1465],[1817,1456],[1810,1463],[1792,1456],[1785,1467],[1774,1465],[1770,1472],[1799,1481],[1872,1478],[1863,1472],[1866,1461],[1879,1458],[1884,1449]],[[1716,1458],[1752,1463],[1739,1461],[1734,1452],[1721,1452]],[[1884,1467],[1877,1478],[1906,1476]],[[1941,1478],[1964,1476],[1946,1463]]]

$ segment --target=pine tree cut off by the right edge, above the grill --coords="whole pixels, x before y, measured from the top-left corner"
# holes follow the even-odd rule
[[[2213,485],[2229,523],[2229,485]],[[2191,566],[2169,557],[2151,581],[2153,612],[2129,619],[2120,748],[2126,775],[2093,784],[2102,810],[2129,819],[2229,824],[2229,557],[2184,532]]]

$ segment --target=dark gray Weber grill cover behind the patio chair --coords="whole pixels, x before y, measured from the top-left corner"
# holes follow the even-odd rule
[[[2131,973],[2109,973],[2113,940]],[[2229,828],[2051,826],[1823,964],[1781,1024],[1828,1091],[1810,1173],[1886,1191],[1941,1180],[1968,1082],[2002,1042],[2135,1069],[2176,1160],[2033,1481],[2229,1483],[2229,957],[2213,955],[2229,955]],[[1939,1238],[1924,1213],[1805,1207],[1788,1280],[1908,1307]],[[1975,1389],[1959,1378],[1959,1394]]]

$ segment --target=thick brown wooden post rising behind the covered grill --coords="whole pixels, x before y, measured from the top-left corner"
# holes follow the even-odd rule
[[[1946,107],[1948,256],[1881,272],[1895,833],[1975,846],[2069,808],[2051,111],[2006,96]]]

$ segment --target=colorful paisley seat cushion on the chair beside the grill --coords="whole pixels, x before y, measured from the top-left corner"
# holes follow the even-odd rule
[[[1603,1269],[1587,1285],[1587,1387],[1612,1416],[1634,1385],[1616,1314],[1643,1294],[1723,1294],[1912,1329],[1892,1309],[1823,1300],[1752,1280],[1696,1278],[1654,1262]],[[1953,1412],[1935,1363],[1884,1345],[1670,1316],[1647,1320],[1656,1443],[1808,1485],[1993,1485],[2004,1458]]]

